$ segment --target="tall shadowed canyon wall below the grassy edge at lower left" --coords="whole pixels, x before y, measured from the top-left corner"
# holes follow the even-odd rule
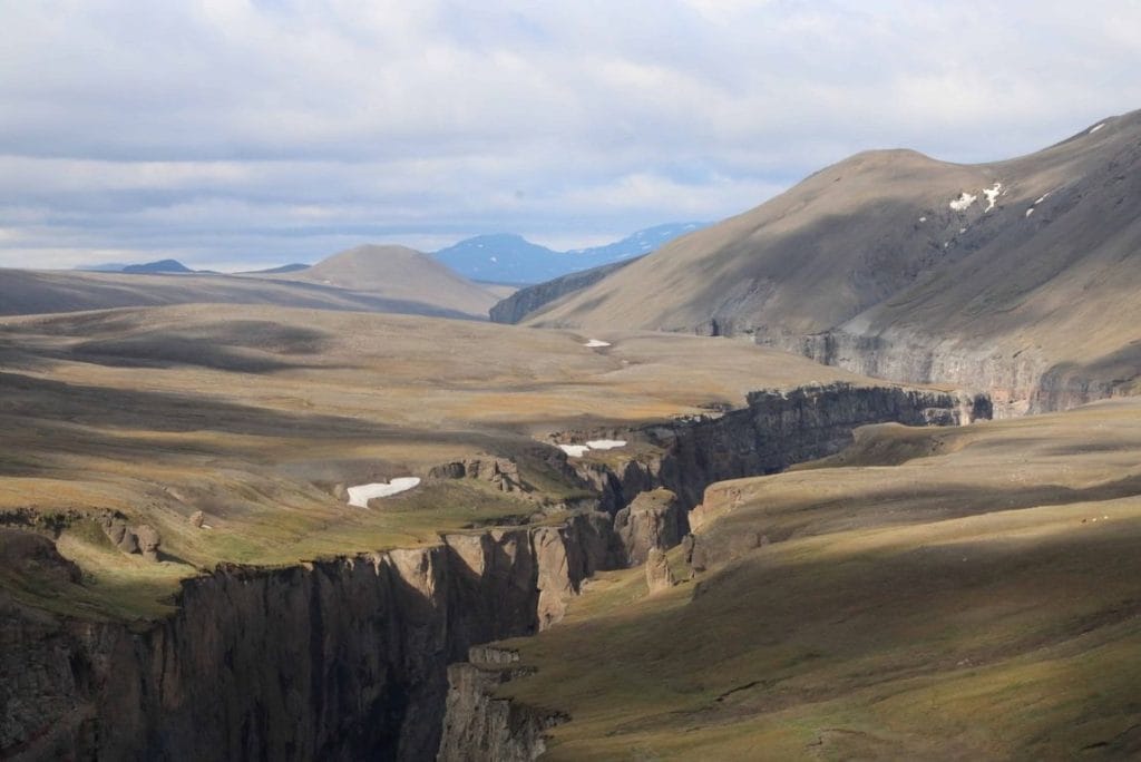
[[[608,521],[184,584],[143,632],[0,601],[0,752],[116,760],[431,759],[446,667],[535,632],[610,564]]]

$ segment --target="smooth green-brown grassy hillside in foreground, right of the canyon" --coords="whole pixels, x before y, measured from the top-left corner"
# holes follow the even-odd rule
[[[1139,462],[1128,400],[714,485],[705,572],[607,575],[504,694],[573,716],[551,760],[1133,757]]]

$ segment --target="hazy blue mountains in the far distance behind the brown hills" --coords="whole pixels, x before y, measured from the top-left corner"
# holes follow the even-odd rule
[[[456,273],[493,283],[543,283],[600,265],[640,257],[704,222],[671,222],[639,230],[622,241],[590,249],[556,251],[520,235],[501,233],[467,238],[435,253]]]

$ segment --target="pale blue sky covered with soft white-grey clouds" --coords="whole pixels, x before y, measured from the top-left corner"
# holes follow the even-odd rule
[[[570,249],[1141,107],[1141,0],[0,0],[0,267]]]

